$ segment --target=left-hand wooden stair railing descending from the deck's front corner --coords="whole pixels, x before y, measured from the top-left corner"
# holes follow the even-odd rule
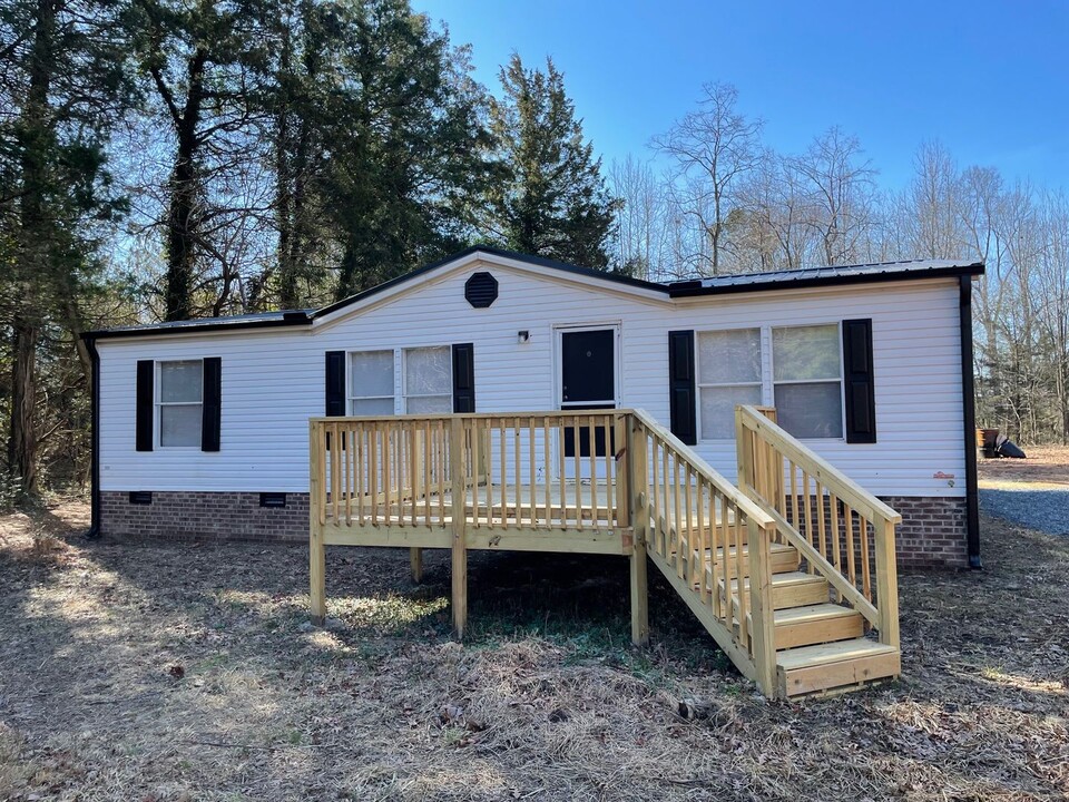
[[[650,415],[636,410],[628,443],[648,534],[669,583],[739,669],[774,694],[776,649],[771,515]],[[748,580],[747,580],[748,577]],[[712,624],[712,626],[710,626]]]

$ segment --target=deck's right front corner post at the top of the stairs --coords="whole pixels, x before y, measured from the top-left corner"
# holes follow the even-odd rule
[[[617,463],[617,481],[619,469],[624,468],[625,488],[627,496],[621,496],[617,486],[617,503],[624,499],[629,507],[628,519],[634,532],[634,550],[631,551],[631,643],[645,646],[649,643],[649,589],[647,586],[646,542],[649,537],[648,496],[648,464],[646,453],[646,432],[638,421],[628,417],[624,431],[627,434],[621,447],[626,449],[624,460]]]

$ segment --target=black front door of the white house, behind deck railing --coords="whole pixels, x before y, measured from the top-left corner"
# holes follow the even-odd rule
[[[560,335],[560,408],[612,409],[616,407],[616,330],[562,332]],[[610,443],[610,448],[612,444]],[[605,456],[605,433],[595,430],[597,457]],[[575,457],[573,429],[565,430],[565,456]],[[579,430],[579,456],[590,456],[587,428]]]

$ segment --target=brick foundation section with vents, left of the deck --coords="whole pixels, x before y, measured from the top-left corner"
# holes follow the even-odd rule
[[[109,537],[167,540],[308,539],[308,495],[286,493],[284,508],[259,506],[258,492],[153,491],[130,503],[129,492],[100,493],[100,524]]]

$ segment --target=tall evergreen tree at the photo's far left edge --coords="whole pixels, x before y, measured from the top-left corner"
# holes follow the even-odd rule
[[[0,9],[8,472],[21,500],[32,501],[39,490],[38,366],[46,335],[56,326],[80,331],[78,302],[96,268],[94,228],[120,207],[104,149],[122,95],[124,11],[109,0],[20,0]],[[85,379],[88,356],[80,355]]]

